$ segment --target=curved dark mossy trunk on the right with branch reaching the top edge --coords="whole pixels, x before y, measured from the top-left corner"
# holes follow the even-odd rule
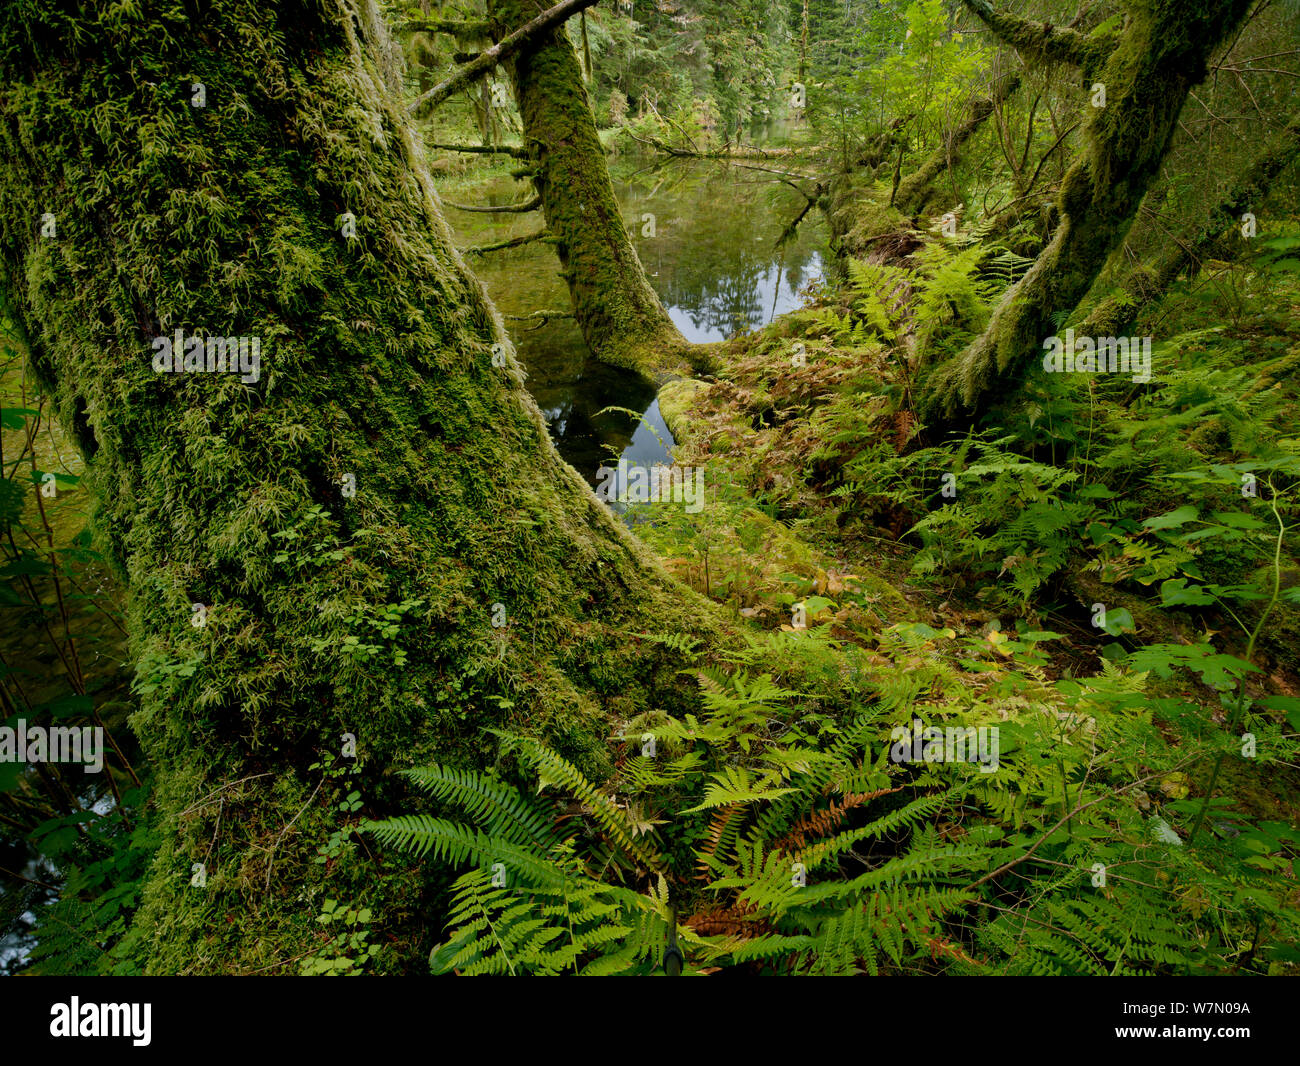
[[[1061,224],[1028,273],[994,309],[971,346],[931,373],[922,400],[928,420],[974,417],[1019,387],[1052,334],[1052,316],[1087,295],[1123,240],[1160,169],[1188,91],[1210,52],[1254,0],[1154,0],[1134,4],[1112,39],[1030,23],[966,0],[1002,40],[1044,61],[1079,66],[1100,82],[1105,105],[1091,109],[1084,156],[1061,183]]]

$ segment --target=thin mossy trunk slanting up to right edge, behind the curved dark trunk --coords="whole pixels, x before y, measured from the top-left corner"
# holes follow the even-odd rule
[[[1149,266],[1132,270],[1123,294],[1109,296],[1075,328],[1080,335],[1117,337],[1158,300],[1184,270],[1200,269],[1201,260],[1226,230],[1240,226],[1247,212],[1258,212],[1274,179],[1300,153],[1300,116],[1274,136],[1249,168],[1214,204],[1209,217],[1186,239],[1173,244]]]

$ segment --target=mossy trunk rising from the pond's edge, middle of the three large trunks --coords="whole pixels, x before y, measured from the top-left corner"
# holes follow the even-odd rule
[[[490,0],[497,36],[524,25],[541,6]],[[588,347],[604,363],[649,376],[703,365],[706,350],[686,342],[673,325],[632,246],[564,27],[530,38],[508,65],[537,168],[533,181]]]

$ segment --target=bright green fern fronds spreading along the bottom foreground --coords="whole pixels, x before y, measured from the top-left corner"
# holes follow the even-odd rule
[[[796,693],[755,682],[737,662],[732,673],[698,667],[714,694],[701,719],[629,724],[640,753],[628,762],[654,768],[628,770],[606,789],[572,768],[556,774],[562,760],[536,742],[519,750],[547,770],[528,792],[443,767],[412,771],[473,823],[408,815],[368,827],[469,867],[434,970],[647,972],[671,922],[688,968],[1200,972],[1226,966],[1251,928],[1252,954],[1290,957],[1287,863],[1300,835],[1232,828],[1242,823],[1227,815],[1193,849],[1171,826],[1186,828],[1195,805],[1156,798],[1153,779],[1180,794],[1190,740],[1169,745],[1153,708],[1176,723],[1195,706],[1152,699],[1145,672],[1109,663],[1093,679],[1052,682],[1039,645],[1057,634],[1019,632],[966,641],[963,666],[983,673],[985,694],[958,710],[968,689],[932,654],[953,636],[923,625],[883,634],[880,651],[896,666],[870,680],[879,703],[812,745],[781,724]],[[798,637],[797,658],[811,664],[824,641],[820,630]],[[755,641],[741,659],[781,646],[789,642]],[[1145,670],[1164,668],[1158,649],[1148,653]],[[910,696],[890,694],[909,681]],[[888,744],[874,754],[889,723],[913,715],[997,723],[997,772],[894,763]],[[1270,758],[1295,748],[1262,719],[1252,728]],[[545,798],[556,785],[581,797],[578,819],[566,816],[563,798]],[[646,846],[667,866],[644,862]],[[1243,848],[1261,862],[1243,867]],[[632,890],[646,875],[658,888]]]

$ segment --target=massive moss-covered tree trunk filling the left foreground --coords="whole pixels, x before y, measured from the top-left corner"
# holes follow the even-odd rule
[[[556,456],[373,0],[185,10],[0,9],[0,281],[127,582],[156,770],[139,954],[291,970],[330,896],[402,968],[425,881],[347,835],[317,859],[330,832],[393,766],[490,758],[489,725],[598,772],[611,718],[681,706],[636,633],[712,615]],[[177,372],[177,332],[247,358]],[[352,814],[320,766],[344,734]]]

